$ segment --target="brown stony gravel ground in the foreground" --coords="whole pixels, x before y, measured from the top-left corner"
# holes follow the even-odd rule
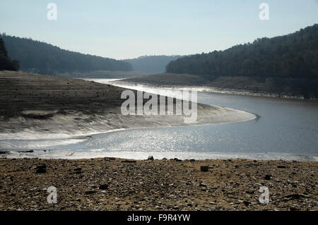
[[[317,210],[317,174],[318,162],[0,159],[0,210]]]

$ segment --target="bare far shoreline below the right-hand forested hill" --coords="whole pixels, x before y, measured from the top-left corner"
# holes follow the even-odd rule
[[[301,83],[303,80],[298,80]],[[317,97],[308,96],[304,90],[295,90],[290,83],[293,79],[282,79],[285,86],[277,85],[275,79],[271,77],[243,77],[225,76],[216,77],[214,80],[205,80],[198,75],[160,73],[145,75],[143,77],[126,78],[114,83],[126,83],[129,85],[146,85],[150,87],[173,88],[181,90],[200,90],[203,92],[225,93],[230,95],[248,95],[259,97],[279,97],[285,99],[312,99]]]

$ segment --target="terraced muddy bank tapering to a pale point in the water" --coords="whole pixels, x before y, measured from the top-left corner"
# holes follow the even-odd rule
[[[256,118],[245,111],[206,104],[198,104],[196,123],[185,123],[184,116],[175,114],[125,116],[121,111],[124,90],[86,80],[0,71],[0,140],[16,137],[16,133],[91,135],[122,128],[236,123]]]

